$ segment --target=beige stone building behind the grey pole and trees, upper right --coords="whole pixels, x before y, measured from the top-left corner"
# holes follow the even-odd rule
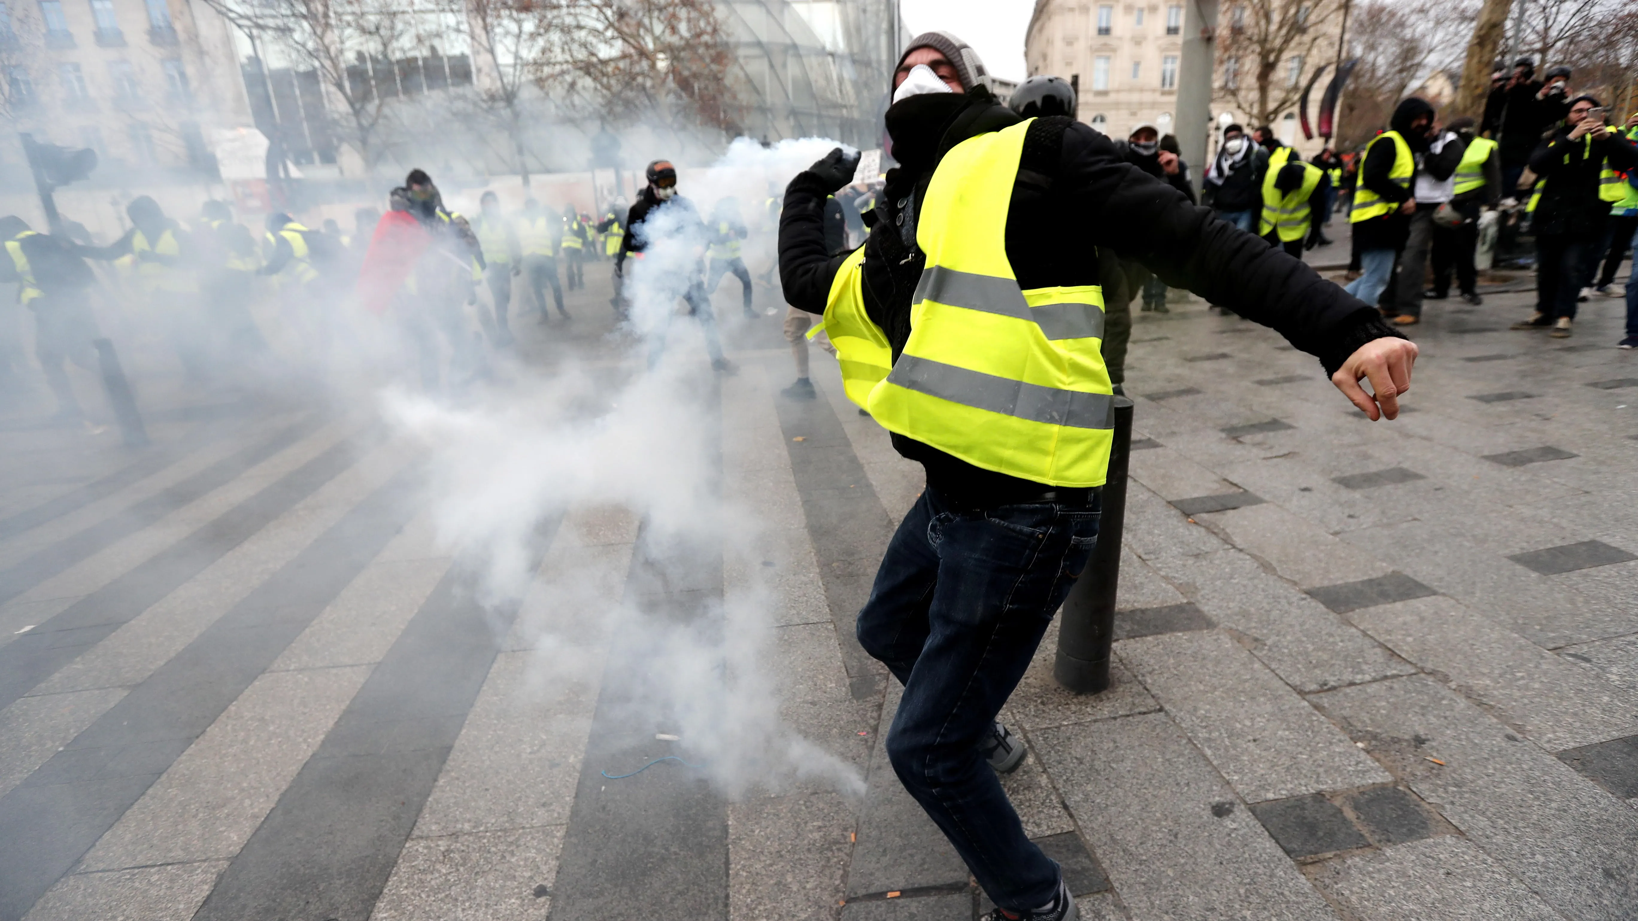
[[[1232,21],[1233,8],[1224,5],[1224,21]],[[1111,138],[1125,138],[1138,125],[1155,125],[1173,131],[1178,105],[1178,79],[1183,59],[1184,7],[1178,0],[1037,0],[1024,43],[1024,59],[1030,75],[1052,74],[1076,85],[1079,120]],[[1335,25],[1332,25],[1335,28]],[[1335,43],[1314,61],[1287,62],[1281,80],[1305,82],[1314,67],[1332,59]],[[1238,80],[1238,62],[1219,59],[1214,75],[1212,120],[1225,125],[1247,121],[1243,110],[1227,98],[1224,84]],[[1309,118],[1315,116],[1324,80],[1310,100]],[[1251,125],[1247,125],[1250,129]],[[1317,152],[1320,139],[1304,141],[1297,113],[1283,113],[1274,129],[1304,154]],[[1215,134],[1215,133],[1214,133]],[[1215,154],[1217,138],[1209,141]]]

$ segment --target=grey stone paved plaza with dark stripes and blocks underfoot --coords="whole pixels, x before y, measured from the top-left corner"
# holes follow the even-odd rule
[[[524,365],[636,369],[603,275],[573,324],[516,324]],[[369,405],[139,380],[143,451],[0,421],[0,921],[988,908],[886,765],[898,687],[852,634],[919,467],[822,352],[821,398],[780,398],[780,320],[737,295],[740,372],[690,380],[719,387],[721,488],[763,515],[762,559],[570,506],[521,605],[475,600]],[[1060,690],[1053,629],[1002,713],[1030,744],[1006,787],[1084,918],[1638,918],[1638,354],[1618,300],[1568,341],[1507,331],[1530,297],[1432,302],[1405,415],[1374,424],[1268,329],[1138,316],[1114,687]],[[708,610],[747,565],[776,587],[785,721],[860,798],[613,778],[695,757],[631,718],[618,628],[539,692],[524,624]]]

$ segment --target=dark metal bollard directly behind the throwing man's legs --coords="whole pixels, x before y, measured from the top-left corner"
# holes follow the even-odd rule
[[[1120,585],[1120,531],[1125,518],[1127,459],[1132,454],[1132,400],[1114,400],[1114,446],[1104,483],[1097,546],[1086,572],[1063,601],[1058,616],[1058,657],[1052,677],[1075,693],[1109,688],[1109,644],[1115,631],[1115,588]]]

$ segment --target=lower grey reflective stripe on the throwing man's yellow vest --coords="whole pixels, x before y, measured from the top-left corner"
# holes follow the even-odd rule
[[[904,354],[893,362],[888,382],[963,406],[989,410],[1032,423],[1114,428],[1114,418],[1109,415],[1114,397],[1109,393],[1057,390]]]

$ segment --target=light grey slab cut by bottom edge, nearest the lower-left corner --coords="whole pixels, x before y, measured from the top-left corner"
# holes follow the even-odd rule
[[[226,865],[226,860],[205,860],[113,873],[75,873],[48,892],[26,914],[26,921],[188,918]]]

